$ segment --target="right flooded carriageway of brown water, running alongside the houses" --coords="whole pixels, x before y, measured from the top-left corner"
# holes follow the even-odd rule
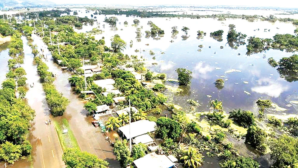
[[[49,61],[45,61],[49,67],[49,71],[56,74],[56,80],[54,85],[56,89],[63,93],[63,96],[69,99],[69,105],[66,108],[66,112],[62,117],[65,117],[69,126],[74,133],[79,147],[82,151],[87,151],[97,155],[99,158],[106,160],[110,163],[110,167],[118,168],[120,164],[116,161],[116,157],[113,154],[113,147],[105,140],[105,135],[99,128],[95,128],[91,121],[91,116],[86,117],[88,113],[84,106],[83,101],[77,97],[72,91],[72,88],[68,82],[69,75],[68,71],[62,71],[60,67],[52,61],[52,56],[44,42],[36,35],[32,35],[33,44],[44,49],[44,55],[47,55]]]

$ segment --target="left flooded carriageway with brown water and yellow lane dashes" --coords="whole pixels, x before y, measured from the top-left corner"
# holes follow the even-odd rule
[[[28,104],[35,110],[35,118],[30,130],[30,143],[32,144],[33,167],[65,167],[62,161],[62,149],[58,135],[53,124],[46,125],[44,121],[49,119],[49,107],[45,93],[37,73],[36,65],[33,65],[34,56],[27,44],[26,38],[22,37],[24,44],[24,67],[27,75],[28,92],[26,95]],[[34,83],[34,87],[30,84]]]

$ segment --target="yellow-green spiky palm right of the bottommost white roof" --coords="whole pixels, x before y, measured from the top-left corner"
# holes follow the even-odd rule
[[[184,166],[196,168],[202,166],[203,158],[204,156],[197,153],[196,149],[190,148],[180,160],[184,161]]]

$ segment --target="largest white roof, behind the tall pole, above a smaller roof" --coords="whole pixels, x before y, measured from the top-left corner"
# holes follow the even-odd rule
[[[131,123],[131,138],[155,131],[156,123],[149,120],[139,120]],[[130,138],[129,124],[118,128],[127,139]]]

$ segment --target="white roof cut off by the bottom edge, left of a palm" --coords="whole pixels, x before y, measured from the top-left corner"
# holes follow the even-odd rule
[[[166,155],[157,155],[155,152],[149,153],[134,161],[137,168],[170,168],[174,163]]]

